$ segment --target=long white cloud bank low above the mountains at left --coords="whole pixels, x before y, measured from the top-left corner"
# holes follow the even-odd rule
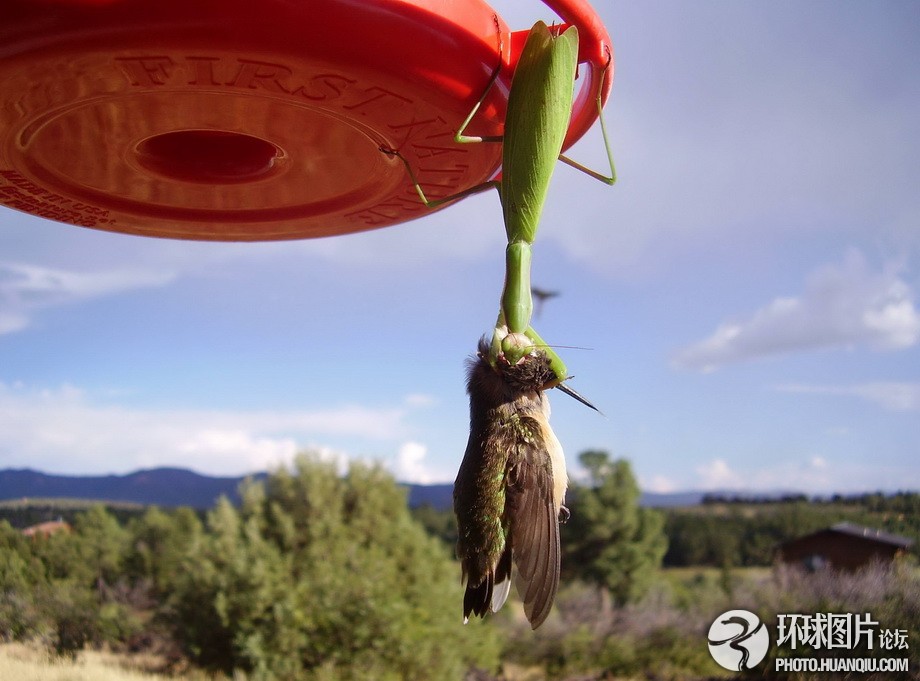
[[[286,465],[304,449],[328,451],[341,462],[330,442],[398,441],[408,431],[408,413],[356,405],[271,412],[129,408],[72,386],[36,391],[0,384],[0,467],[88,474],[176,465],[227,475]],[[420,459],[416,466],[422,470]]]

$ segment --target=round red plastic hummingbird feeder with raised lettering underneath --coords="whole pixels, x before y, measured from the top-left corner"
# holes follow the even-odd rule
[[[584,85],[565,147],[594,122],[612,55],[584,0]],[[144,236],[264,241],[420,217],[422,183],[493,177],[501,145],[454,132],[508,49],[469,134],[502,132],[526,31],[481,0],[2,0],[0,205]],[[607,71],[612,74],[612,69]]]

